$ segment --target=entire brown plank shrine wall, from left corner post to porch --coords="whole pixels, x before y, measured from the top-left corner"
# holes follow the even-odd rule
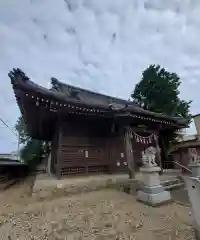
[[[62,122],[59,128],[56,168],[61,176],[127,171],[123,135],[112,135],[98,123]]]

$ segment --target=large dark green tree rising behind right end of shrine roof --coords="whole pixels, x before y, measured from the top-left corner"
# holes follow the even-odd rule
[[[144,109],[163,113],[173,117],[190,118],[190,105],[192,101],[180,99],[179,86],[181,80],[176,73],[171,73],[159,65],[150,65],[142,73],[141,81],[136,84],[131,94],[133,100]],[[165,146],[163,153],[166,159],[166,152],[170,143],[176,140],[176,129],[161,132],[159,142]]]

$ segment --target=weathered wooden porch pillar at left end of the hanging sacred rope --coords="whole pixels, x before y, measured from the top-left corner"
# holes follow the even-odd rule
[[[130,127],[125,128],[125,156],[128,163],[129,178],[133,178],[134,171],[134,160],[133,160],[133,149],[132,149],[132,132]]]

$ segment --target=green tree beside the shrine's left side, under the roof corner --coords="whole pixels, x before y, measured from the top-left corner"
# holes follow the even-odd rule
[[[20,150],[21,159],[31,166],[36,166],[49,153],[50,144],[31,138],[22,116],[19,117],[15,129],[19,133],[20,144],[23,145]]]

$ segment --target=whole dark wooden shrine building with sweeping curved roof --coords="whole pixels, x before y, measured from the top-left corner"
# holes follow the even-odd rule
[[[13,69],[9,77],[29,134],[51,141],[49,171],[58,178],[136,170],[148,147],[156,149],[156,161],[162,165],[158,135],[188,124],[188,120],[147,111],[132,101],[55,78],[52,88],[46,89],[20,69]]]

